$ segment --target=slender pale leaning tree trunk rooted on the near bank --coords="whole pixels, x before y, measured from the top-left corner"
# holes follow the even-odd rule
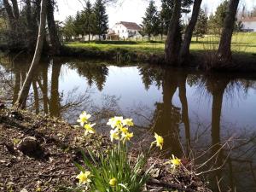
[[[31,67],[29,69],[29,72],[26,75],[26,80],[22,86],[22,89],[20,90],[20,95],[16,102],[16,106],[19,108],[25,108],[26,106],[26,98],[28,96],[28,93],[32,84],[34,73],[37,70],[38,63],[42,55],[42,50],[44,47],[44,37],[45,37],[46,11],[47,11],[47,0],[42,0],[41,12],[40,12],[40,25],[39,25],[39,32],[38,32],[38,44],[35,50]]]

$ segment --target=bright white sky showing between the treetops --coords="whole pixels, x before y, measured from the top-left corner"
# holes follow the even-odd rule
[[[206,7],[209,13],[215,11],[218,4],[223,0],[203,0],[202,7]],[[55,13],[55,20],[65,20],[68,15],[76,15],[77,11],[83,8],[84,0],[61,0],[58,1],[58,11]],[[94,3],[94,0],[90,1]],[[131,21],[142,23],[145,10],[148,7],[148,0],[120,0],[123,3],[115,3],[108,6],[109,26],[112,27],[119,21]],[[156,5],[160,8],[160,0],[156,0]],[[247,9],[252,9],[256,6],[256,0],[241,0],[240,6],[245,4]]]

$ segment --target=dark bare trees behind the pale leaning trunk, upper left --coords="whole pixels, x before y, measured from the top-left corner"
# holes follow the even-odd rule
[[[51,48],[54,54],[60,52],[61,43],[55,25],[55,0],[46,1],[46,21],[49,42],[44,36],[45,48]],[[1,0],[0,17],[6,21],[6,30],[2,36],[7,38],[9,49],[27,49],[34,51],[38,39],[41,0]]]

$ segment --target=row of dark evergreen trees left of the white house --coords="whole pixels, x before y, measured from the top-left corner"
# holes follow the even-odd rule
[[[104,38],[107,32],[108,15],[105,3],[102,0],[96,0],[93,6],[90,0],[88,0],[84,10],[78,12],[75,17],[67,17],[63,28],[63,35],[67,40],[70,40],[72,37],[79,37],[79,35],[88,35],[90,41],[91,35]]]

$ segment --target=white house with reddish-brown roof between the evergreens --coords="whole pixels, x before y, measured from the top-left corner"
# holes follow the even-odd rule
[[[116,23],[108,32],[108,34],[116,34],[119,38],[141,37],[139,33],[142,27],[134,22],[120,21]]]

